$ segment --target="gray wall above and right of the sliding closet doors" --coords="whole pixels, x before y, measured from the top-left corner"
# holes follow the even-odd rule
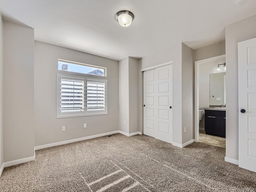
[[[142,58],[142,69],[172,61],[172,141],[182,144],[182,44]]]

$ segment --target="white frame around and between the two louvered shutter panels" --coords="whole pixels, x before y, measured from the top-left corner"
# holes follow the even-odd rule
[[[68,115],[60,115],[60,77],[66,76],[66,77],[73,77],[73,78],[83,78],[84,79],[84,112],[83,114],[68,114]],[[94,112],[94,111],[87,111],[87,88],[86,88],[86,82],[87,80],[95,80],[95,81],[104,81],[105,82],[105,110],[104,112]],[[79,117],[79,116],[92,116],[92,115],[106,115],[108,114],[108,80],[103,78],[91,78],[89,76],[76,76],[72,74],[57,74],[57,118],[67,118],[67,117]]]

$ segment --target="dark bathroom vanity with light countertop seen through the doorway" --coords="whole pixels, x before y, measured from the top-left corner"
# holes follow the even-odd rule
[[[226,138],[226,108],[204,108],[205,132]]]

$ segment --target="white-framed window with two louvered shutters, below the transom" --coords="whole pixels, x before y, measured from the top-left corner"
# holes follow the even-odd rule
[[[57,117],[107,114],[107,80],[58,74]]]

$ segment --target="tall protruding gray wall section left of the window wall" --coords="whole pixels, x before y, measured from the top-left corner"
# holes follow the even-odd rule
[[[4,21],[4,162],[34,156],[34,29]]]

